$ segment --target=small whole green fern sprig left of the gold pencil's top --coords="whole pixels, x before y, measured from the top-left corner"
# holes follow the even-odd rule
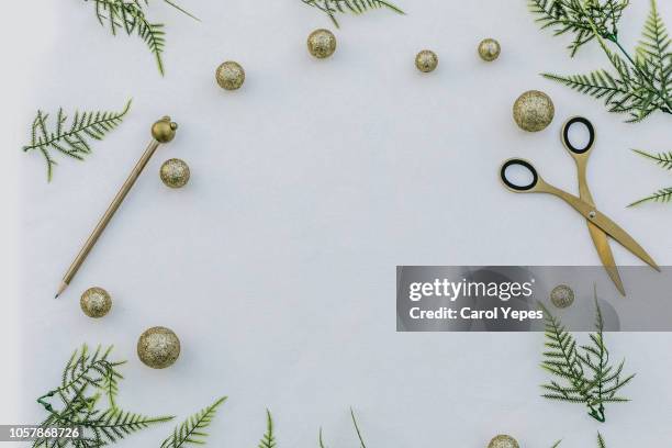
[[[23,146],[23,152],[38,150],[47,164],[47,180],[52,180],[54,166],[58,165],[52,152],[60,153],[77,160],[83,160],[91,154],[89,139],[100,141],[105,134],[119,126],[131,109],[131,100],[120,112],[75,112],[72,122],[66,125],[68,116],[63,108],[58,109],[56,122],[49,130],[49,114],[37,111],[31,127],[31,143]]]

